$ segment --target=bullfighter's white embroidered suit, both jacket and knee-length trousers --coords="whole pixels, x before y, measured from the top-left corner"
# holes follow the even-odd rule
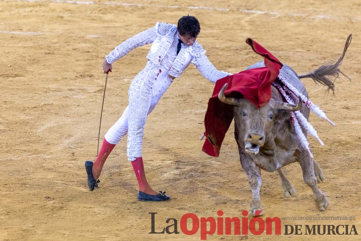
[[[106,141],[112,144],[119,143],[119,140],[128,134],[127,155],[130,161],[142,156],[143,131],[147,115],[173,79],[179,77],[190,63],[212,82],[230,75],[217,70],[210,63],[205,50],[197,41],[192,46],[182,44],[177,55],[178,38],[177,26],[157,22],[154,27],[119,44],[105,57],[106,61],[112,64],[134,48],[152,43],[145,68],[135,76],[129,87],[129,106],[105,134]]]

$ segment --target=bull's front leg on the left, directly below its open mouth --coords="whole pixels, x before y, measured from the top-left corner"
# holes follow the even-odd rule
[[[255,162],[253,162],[251,157],[249,157],[247,154],[244,154],[242,150],[239,150],[239,152],[240,152],[242,169],[248,176],[249,186],[251,186],[251,190],[252,190],[250,213],[253,216],[262,216],[263,210],[260,199],[261,169],[257,167],[257,165],[255,164]]]

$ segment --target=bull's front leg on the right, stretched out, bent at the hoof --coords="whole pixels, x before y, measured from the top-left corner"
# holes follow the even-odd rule
[[[325,193],[322,193],[321,190],[317,187],[317,178],[314,173],[314,161],[311,158],[306,150],[300,148],[298,153],[298,162],[302,168],[303,180],[305,183],[312,189],[313,199],[316,204],[316,207],[321,211],[325,211],[329,206],[329,200]]]

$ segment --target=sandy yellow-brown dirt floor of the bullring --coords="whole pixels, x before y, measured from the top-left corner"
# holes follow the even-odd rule
[[[138,185],[126,156],[126,139],[110,154],[101,183],[88,191],[85,160],[95,160],[105,74],[104,56],[157,21],[177,23],[195,15],[198,41],[220,70],[236,73],[262,60],[245,43],[251,37],[303,74],[336,61],[347,36],[351,46],[336,92],[303,79],[310,99],[336,123],[311,113],[325,142],[309,137],[325,174],[329,198],[319,212],[299,164],[284,171],[297,190],[285,198],[277,173],[262,172],[264,218],[279,217],[282,235],[208,236],[207,240],[359,240],[359,235],[284,235],[283,225],[356,225],[361,234],[360,95],[361,3],[359,0],[0,1],[0,240],[200,240],[180,234],[148,234],[165,220],[241,218],[251,190],[240,167],[233,125],[219,158],[201,152],[204,114],[214,84],[191,65],[175,79],[148,116],[143,158],[149,183],[169,202],[138,202]],[[129,3],[129,4],[125,4]],[[176,6],[176,7],[175,7]],[[178,6],[178,7],[177,7]],[[101,136],[128,102],[132,78],[150,48],[131,51],[113,64],[106,89]],[[286,216],[355,217],[355,220],[284,220]],[[304,228],[303,228],[304,230]],[[180,231],[178,223],[178,231]],[[327,236],[327,237],[326,237]]]

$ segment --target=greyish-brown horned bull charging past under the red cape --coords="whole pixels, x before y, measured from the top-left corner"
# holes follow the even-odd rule
[[[280,74],[287,75],[287,81],[291,83],[299,93],[308,97],[308,93],[300,81],[301,78],[312,78],[334,91],[334,83],[330,76],[338,77],[339,65],[342,63],[345,52],[351,42],[348,37],[342,56],[335,64],[327,64],[319,67],[309,74],[298,76],[290,66],[283,65]],[[247,69],[263,67],[259,62]],[[301,166],[303,179],[312,189],[314,203],[320,211],[325,211],[329,201],[325,193],[318,189],[317,183],[324,180],[322,169],[313,159],[311,152],[301,145],[294,125],[292,125],[292,112],[300,111],[308,120],[310,109],[303,104],[301,98],[296,98],[295,104],[283,102],[282,95],[275,86],[271,86],[271,100],[266,106],[256,108],[249,100],[243,98],[227,97],[224,94],[227,84],[218,94],[219,100],[225,104],[234,106],[235,139],[239,149],[240,162],[246,173],[252,190],[250,212],[253,216],[263,215],[260,188],[261,169],[277,171],[285,197],[296,194],[295,188],[288,181],[282,171],[282,167],[298,162]],[[297,103],[298,102],[298,103]],[[302,132],[306,135],[305,128]],[[257,211],[259,210],[259,211]]]

